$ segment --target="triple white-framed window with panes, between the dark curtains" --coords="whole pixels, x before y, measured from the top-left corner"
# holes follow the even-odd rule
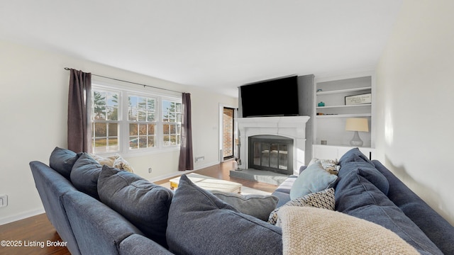
[[[122,154],[171,149],[181,140],[181,98],[93,84],[92,149]]]

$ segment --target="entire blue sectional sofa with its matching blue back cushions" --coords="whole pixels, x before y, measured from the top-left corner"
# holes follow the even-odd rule
[[[454,254],[454,227],[380,162],[353,149],[339,164],[336,210],[391,229],[421,254]],[[280,227],[186,176],[174,193],[60,148],[49,166],[30,166],[45,212],[72,254],[282,254]],[[290,200],[295,181],[290,176],[273,193],[277,207]]]

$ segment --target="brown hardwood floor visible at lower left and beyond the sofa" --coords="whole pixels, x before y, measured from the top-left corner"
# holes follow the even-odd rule
[[[243,186],[255,188],[261,191],[272,192],[277,188],[277,186],[267,183],[258,183],[230,177],[230,171],[233,169],[236,169],[236,162],[231,160],[194,171],[194,173],[226,181],[234,181],[236,183],[243,184]],[[170,179],[164,179],[161,181],[155,181],[155,183],[162,185],[169,182],[169,180]],[[48,217],[45,214],[1,225],[0,240],[11,241],[13,244],[15,243],[17,245],[21,244],[21,246],[4,246],[2,243],[0,246],[0,255],[70,255],[70,251],[68,251],[66,247],[47,245],[48,241],[62,242],[62,239],[55,231],[52,224],[50,224]],[[43,248],[41,248],[41,246],[43,246]]]

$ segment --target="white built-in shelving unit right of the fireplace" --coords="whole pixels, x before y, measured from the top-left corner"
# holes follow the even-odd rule
[[[352,148],[353,132],[345,131],[347,118],[367,118],[370,132],[360,132],[364,141],[360,149],[369,156],[375,147],[373,72],[316,79],[314,86],[314,157],[338,159]],[[360,94],[371,94],[372,103],[345,105],[345,96]],[[319,106],[320,102],[325,105]]]

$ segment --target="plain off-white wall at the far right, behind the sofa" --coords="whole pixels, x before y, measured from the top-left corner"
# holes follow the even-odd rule
[[[454,1],[404,1],[377,67],[379,159],[454,225]]]

